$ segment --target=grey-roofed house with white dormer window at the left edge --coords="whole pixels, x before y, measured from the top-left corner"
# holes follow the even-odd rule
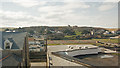
[[[6,67],[29,67],[29,48],[26,32],[0,32],[0,63]]]

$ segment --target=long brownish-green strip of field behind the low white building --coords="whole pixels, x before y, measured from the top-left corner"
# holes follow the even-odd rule
[[[120,39],[119,39],[120,40]],[[78,44],[96,44],[96,41],[106,42],[106,43],[118,43],[118,39],[92,39],[92,40],[48,40],[48,45],[78,45]]]

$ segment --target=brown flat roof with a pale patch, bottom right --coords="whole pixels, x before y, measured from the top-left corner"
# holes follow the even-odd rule
[[[92,66],[118,66],[118,55],[113,54],[94,54],[76,56],[75,58]]]

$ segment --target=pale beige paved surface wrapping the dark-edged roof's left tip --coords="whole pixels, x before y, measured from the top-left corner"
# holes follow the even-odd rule
[[[72,45],[75,47],[75,45]],[[66,66],[68,67],[79,67],[79,68],[86,68],[83,65],[74,63],[74,62],[70,62],[68,60],[65,60],[63,58],[57,57],[55,55],[52,55],[51,52],[57,52],[57,51],[65,51],[68,49],[68,45],[56,45],[56,46],[48,46],[48,54],[49,57],[51,57],[50,63],[52,63],[51,67],[54,68],[54,66],[60,66],[62,68],[66,68]]]

